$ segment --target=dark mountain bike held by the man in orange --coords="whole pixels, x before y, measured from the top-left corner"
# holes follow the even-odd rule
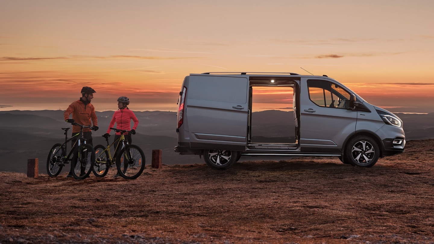
[[[47,158],[47,173],[49,176],[55,177],[62,171],[63,166],[71,161],[72,176],[81,180],[88,177],[95,162],[95,151],[92,145],[86,144],[86,139],[83,138],[83,128],[93,129],[93,127],[80,125],[76,122],[71,124],[80,126],[80,132],[68,139],[68,130],[70,128],[62,128],[65,131],[65,142],[63,144],[56,143],[51,148]],[[76,137],[78,139],[74,143],[71,152],[66,156],[68,142]],[[70,159],[72,154],[72,159]]]

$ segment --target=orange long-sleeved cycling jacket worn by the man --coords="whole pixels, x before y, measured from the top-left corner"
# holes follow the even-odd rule
[[[69,115],[72,114],[74,122],[81,125],[92,125],[90,120],[92,119],[93,125],[98,126],[98,118],[95,114],[95,108],[91,103],[85,103],[81,99],[72,102],[68,109],[63,113],[63,117],[69,119]],[[92,126],[93,126],[92,125]],[[83,129],[83,132],[91,131],[89,128]],[[72,132],[80,132],[80,126],[72,125]]]

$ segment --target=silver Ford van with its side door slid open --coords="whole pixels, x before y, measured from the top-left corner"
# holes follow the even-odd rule
[[[175,152],[203,155],[217,169],[241,156],[329,156],[371,167],[405,146],[401,119],[325,75],[190,74],[177,117]]]

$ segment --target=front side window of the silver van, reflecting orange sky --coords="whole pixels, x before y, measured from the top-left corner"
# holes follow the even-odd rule
[[[316,105],[348,109],[350,94],[342,87],[325,80],[308,80],[309,98]]]

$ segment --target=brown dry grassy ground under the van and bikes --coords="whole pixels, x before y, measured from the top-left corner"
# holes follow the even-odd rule
[[[433,144],[410,141],[372,168],[295,158],[148,167],[136,180],[1,172],[0,243],[434,243]]]

